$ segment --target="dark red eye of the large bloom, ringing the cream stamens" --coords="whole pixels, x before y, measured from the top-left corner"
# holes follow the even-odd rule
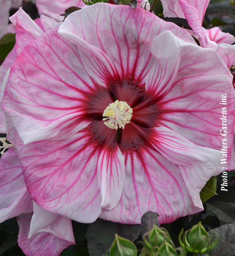
[[[104,124],[103,112],[116,100],[126,102],[133,110],[130,123],[124,129],[110,129]],[[139,151],[149,144],[152,127],[157,126],[160,114],[157,98],[145,92],[145,84],[138,81],[112,81],[107,88],[97,85],[95,91],[87,95],[85,116],[92,122],[87,127],[92,143],[109,149],[119,146],[124,151]]]

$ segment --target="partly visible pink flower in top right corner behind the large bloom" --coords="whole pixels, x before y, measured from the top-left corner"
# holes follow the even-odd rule
[[[165,17],[180,17],[188,21],[200,46],[212,48],[223,58],[227,67],[235,63],[235,41],[233,35],[222,32],[219,28],[206,30],[202,27],[203,17],[209,0],[161,0]],[[191,33],[191,31],[189,31]]]

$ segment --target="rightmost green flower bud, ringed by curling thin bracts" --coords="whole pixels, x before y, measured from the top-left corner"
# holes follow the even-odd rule
[[[180,245],[186,251],[191,253],[209,252],[216,246],[219,239],[218,234],[215,232],[217,237],[216,240],[212,242],[214,235],[209,238],[209,235],[205,228],[201,225],[201,222],[199,222],[197,225],[194,225],[190,230],[184,232],[183,239],[181,239],[182,234],[183,229],[179,234]]]

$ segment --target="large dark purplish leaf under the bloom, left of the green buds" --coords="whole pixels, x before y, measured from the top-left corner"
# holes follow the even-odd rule
[[[110,248],[115,233],[134,241],[140,233],[140,225],[127,225],[97,219],[89,224],[86,233],[89,256],[101,256]]]

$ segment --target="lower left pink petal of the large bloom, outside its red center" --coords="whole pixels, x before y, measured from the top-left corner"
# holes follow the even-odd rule
[[[23,146],[19,139],[16,144],[35,202],[52,213],[90,223],[101,212],[96,174],[99,152],[89,141],[89,130],[85,130],[49,144],[40,141]]]

